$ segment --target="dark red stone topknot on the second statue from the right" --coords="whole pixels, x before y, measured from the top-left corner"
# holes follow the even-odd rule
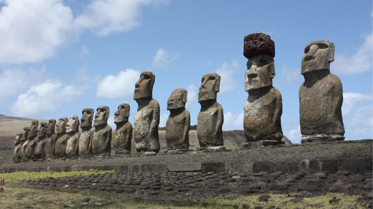
[[[244,38],[244,56],[250,59],[257,55],[275,57],[275,42],[267,33],[251,33]]]

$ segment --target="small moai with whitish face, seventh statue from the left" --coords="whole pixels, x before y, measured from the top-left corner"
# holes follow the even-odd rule
[[[66,123],[66,133],[69,138],[66,142],[66,157],[67,158],[76,158],[79,155],[79,118],[76,115],[72,115],[68,123]]]

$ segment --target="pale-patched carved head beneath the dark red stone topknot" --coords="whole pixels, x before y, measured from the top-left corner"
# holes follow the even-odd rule
[[[273,77],[275,77],[275,64],[270,55],[251,57],[247,61],[245,91],[271,86]]]

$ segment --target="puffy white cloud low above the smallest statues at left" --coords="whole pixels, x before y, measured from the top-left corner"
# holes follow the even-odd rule
[[[35,118],[58,110],[63,103],[72,102],[81,94],[76,86],[64,86],[60,81],[46,80],[20,94],[12,105],[11,112],[14,116]]]

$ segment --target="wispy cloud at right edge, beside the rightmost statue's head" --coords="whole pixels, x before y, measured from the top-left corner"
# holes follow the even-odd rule
[[[372,33],[365,36],[363,44],[352,57],[342,54],[335,55],[335,61],[330,65],[332,73],[337,75],[349,75],[372,70],[373,36]]]

